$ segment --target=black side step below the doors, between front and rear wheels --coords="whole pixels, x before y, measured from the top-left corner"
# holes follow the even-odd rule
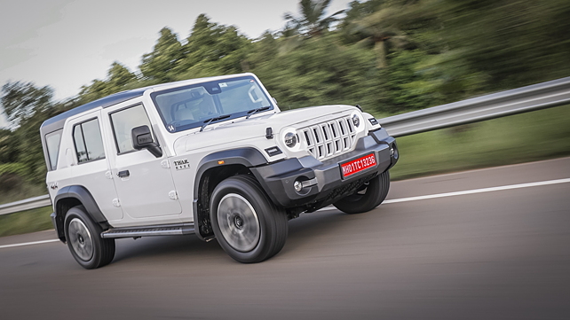
[[[150,236],[182,236],[194,234],[194,223],[149,225],[144,227],[111,228],[101,238],[139,238]]]

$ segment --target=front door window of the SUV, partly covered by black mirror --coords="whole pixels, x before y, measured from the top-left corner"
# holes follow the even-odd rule
[[[111,113],[110,117],[115,134],[115,144],[119,153],[135,150],[132,146],[131,138],[131,130],[133,128],[144,125],[151,128],[145,108],[142,105],[131,106],[130,108]]]

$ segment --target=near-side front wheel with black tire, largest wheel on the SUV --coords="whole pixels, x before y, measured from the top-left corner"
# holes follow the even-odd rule
[[[278,254],[287,240],[287,215],[251,176],[232,176],[216,186],[210,219],[219,245],[235,261],[265,261]]]

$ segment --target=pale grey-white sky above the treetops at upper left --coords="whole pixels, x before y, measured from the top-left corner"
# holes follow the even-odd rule
[[[162,27],[185,39],[194,21],[238,27],[249,38],[285,25],[283,14],[299,14],[299,0],[0,0],[0,85],[34,82],[75,96],[81,86],[104,79],[114,61],[137,69],[153,50]],[[332,0],[328,13],[349,0]],[[8,122],[0,111],[0,128]]]

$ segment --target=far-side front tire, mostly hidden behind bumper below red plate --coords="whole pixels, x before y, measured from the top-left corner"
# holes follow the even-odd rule
[[[349,215],[361,214],[380,206],[389,190],[390,173],[384,171],[364,184],[360,191],[336,201],[333,206]]]

